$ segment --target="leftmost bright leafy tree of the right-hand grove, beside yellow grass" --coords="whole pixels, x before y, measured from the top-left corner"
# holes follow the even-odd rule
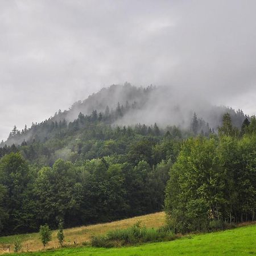
[[[177,222],[177,232],[207,228],[209,205],[217,200],[209,192],[221,186],[216,174],[215,145],[214,139],[189,139],[171,168],[166,209]]]

